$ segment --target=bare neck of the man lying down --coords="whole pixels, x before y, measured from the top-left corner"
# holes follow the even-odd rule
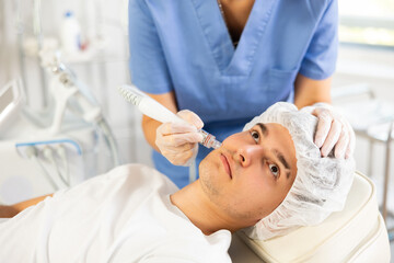
[[[208,198],[201,188],[200,180],[171,195],[171,203],[205,235],[211,235],[221,229],[234,232],[242,228],[237,221],[224,215],[220,207]]]

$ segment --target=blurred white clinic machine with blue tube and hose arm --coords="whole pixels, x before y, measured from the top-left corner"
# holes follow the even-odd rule
[[[4,160],[0,203],[54,193],[96,175],[99,167],[100,172],[107,169],[106,160],[97,160],[101,135],[111,151],[111,164],[120,162],[112,130],[89,89],[60,61],[58,53],[42,52],[40,56],[51,77],[48,112],[36,114],[22,105],[19,81],[0,89],[1,119],[15,121],[7,127],[5,122],[0,123],[4,127],[0,134],[0,159]]]

